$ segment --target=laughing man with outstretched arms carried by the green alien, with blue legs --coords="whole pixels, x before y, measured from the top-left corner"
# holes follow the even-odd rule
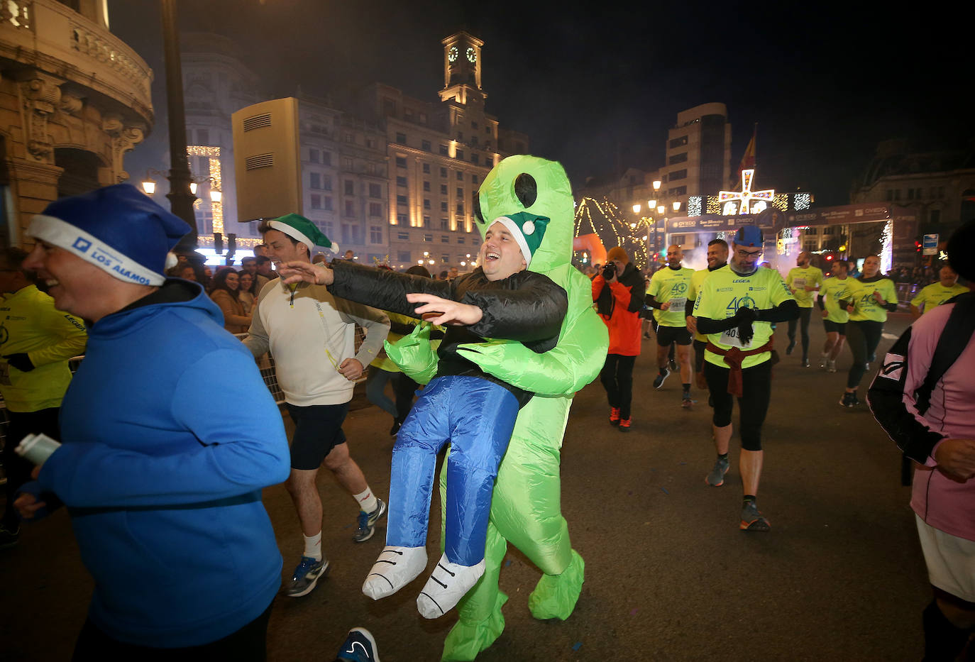
[[[480,266],[455,281],[432,281],[337,260],[331,268],[289,262],[285,283],[329,286],[343,298],[448,325],[436,377],[423,390],[393,448],[386,547],[363,592],[390,596],[427,565],[427,514],[437,453],[447,443],[447,545],[417,598],[421,615],[437,618],[480,579],[491,490],[518,410],[532,394],[487,374],[458,353],[486,338],[518,341],[532,352],[555,347],[567,307],[565,291],[528,271],[547,217],[525,211],[491,219]],[[418,305],[417,305],[418,304]]]

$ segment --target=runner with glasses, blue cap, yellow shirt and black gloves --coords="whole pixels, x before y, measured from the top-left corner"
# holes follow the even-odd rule
[[[714,403],[712,429],[718,451],[705,482],[713,487],[724,483],[736,396],[744,487],[739,527],[749,531],[770,528],[756,499],[763,460],[761,425],[771,398],[771,325],[799,317],[796,298],[779,272],[758,266],[762,241],[759,228],[740,228],[731,245],[730,263],[711,273],[694,303],[697,330],[708,336],[704,376]]]

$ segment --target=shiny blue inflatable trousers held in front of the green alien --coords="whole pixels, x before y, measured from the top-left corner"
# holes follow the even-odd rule
[[[479,564],[497,467],[517,417],[518,400],[494,382],[456,375],[432,380],[393,447],[386,544],[426,545],[437,453],[449,442],[444,551],[452,564]]]

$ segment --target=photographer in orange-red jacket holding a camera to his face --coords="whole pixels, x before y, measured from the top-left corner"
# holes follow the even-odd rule
[[[596,312],[609,330],[609,351],[600,381],[609,400],[609,424],[630,431],[633,365],[640,354],[640,310],[646,284],[621,247],[606,253],[603,271],[593,279]]]

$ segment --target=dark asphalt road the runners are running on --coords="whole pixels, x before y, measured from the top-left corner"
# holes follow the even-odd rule
[[[908,323],[905,314],[891,317],[881,358]],[[784,336],[780,329],[779,347]],[[814,357],[822,340],[814,321]],[[738,528],[735,452],[725,485],[705,485],[714,462],[707,394],[695,392],[699,402],[684,410],[676,375],[653,391],[654,354],[645,340],[630,434],[606,423],[598,382],[578,394],[569,418],[563,512],[586,561],[575,612],[565,622],[533,620],[527,595],[539,572],[512,550],[501,574],[506,629],[478,660],[919,659],[920,611],[930,598],[909,488],[900,486],[898,451],[869,411],[838,405],[848,350],[835,374],[800,368],[798,353],[775,368],[759,495],[768,533]],[[380,495],[389,488],[389,424],[366,407],[345,426]],[[384,601],[363,596],[384,526],[353,543],[354,502],[326,472],[319,482],[331,575],[305,598],[276,601],[269,659],[331,660],[357,625],[373,632],[384,662],[439,659],[455,616],[416,613],[425,574]],[[302,549],[291,499],[276,486],[264,501],[290,574]],[[439,522],[435,503],[432,531]],[[431,563],[439,558],[433,536],[428,551]],[[0,658],[69,659],[92,586],[64,512],[25,526],[20,545],[0,552],[0,585]]]

